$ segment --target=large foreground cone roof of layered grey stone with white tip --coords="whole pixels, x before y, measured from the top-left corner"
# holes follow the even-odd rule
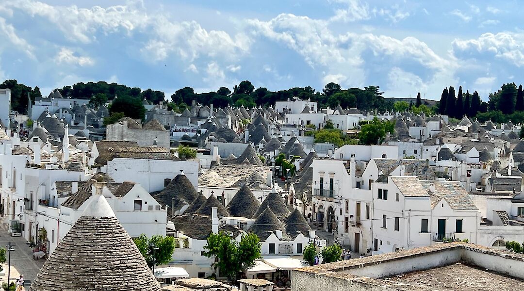
[[[29,290],[158,291],[160,285],[107,200],[96,195]]]

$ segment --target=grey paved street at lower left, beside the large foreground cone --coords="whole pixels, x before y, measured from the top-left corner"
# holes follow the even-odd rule
[[[0,226],[0,247],[4,248],[9,241],[14,244],[15,251],[11,252],[11,273],[10,279],[16,281],[19,274],[23,274],[26,280],[25,289],[29,288],[30,283],[32,282],[40,267],[43,265],[45,260],[33,260],[32,259],[32,250],[29,248],[29,244],[24,238],[21,237],[11,237],[7,233],[7,228],[5,225]],[[6,254],[6,259],[8,259],[8,254]],[[3,281],[7,279],[7,261],[4,267],[5,275],[2,276]]]

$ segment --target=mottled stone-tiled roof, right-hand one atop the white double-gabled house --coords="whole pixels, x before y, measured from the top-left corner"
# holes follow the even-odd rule
[[[429,189],[431,184],[435,187],[435,192],[430,192],[432,208],[444,199],[455,210],[478,210],[459,181],[421,181],[421,184],[425,189]]]

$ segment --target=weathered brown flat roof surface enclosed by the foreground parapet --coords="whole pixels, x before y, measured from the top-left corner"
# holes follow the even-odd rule
[[[412,286],[422,285],[432,290],[524,290],[524,281],[462,263],[401,274],[387,280]]]

